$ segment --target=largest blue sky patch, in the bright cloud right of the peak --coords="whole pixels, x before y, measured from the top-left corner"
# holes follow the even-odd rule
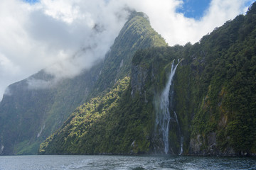
[[[209,6],[210,0],[183,0],[183,5],[177,9],[177,12],[183,13],[187,18],[199,19]]]

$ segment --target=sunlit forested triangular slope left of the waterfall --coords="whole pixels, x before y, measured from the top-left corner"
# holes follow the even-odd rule
[[[146,129],[152,120],[141,113],[138,100],[127,98],[129,77],[117,81],[112,91],[77,108],[60,130],[41,144],[40,154],[139,153],[149,148]],[[129,103],[127,105],[127,103]]]

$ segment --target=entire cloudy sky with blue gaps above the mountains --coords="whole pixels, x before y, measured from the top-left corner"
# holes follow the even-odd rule
[[[0,101],[11,95],[9,84],[41,69],[56,81],[90,69],[110,50],[127,8],[146,13],[169,45],[185,45],[244,14],[253,1],[0,0]]]

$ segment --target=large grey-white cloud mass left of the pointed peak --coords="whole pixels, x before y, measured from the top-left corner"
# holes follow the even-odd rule
[[[103,58],[127,16],[119,9],[104,0],[1,0],[0,101],[6,86],[40,69],[73,77]]]

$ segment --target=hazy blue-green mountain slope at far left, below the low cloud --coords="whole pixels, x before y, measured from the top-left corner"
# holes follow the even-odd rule
[[[33,81],[50,81],[44,71],[11,84],[0,103],[1,154],[36,154],[39,144],[62,125],[68,115],[86,101],[100,67],[85,71],[58,85],[34,89]]]

